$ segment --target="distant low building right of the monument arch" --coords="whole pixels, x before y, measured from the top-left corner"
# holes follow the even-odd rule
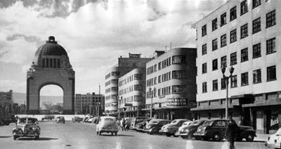
[[[74,105],[75,114],[102,115],[105,109],[105,96],[96,93],[76,94]]]

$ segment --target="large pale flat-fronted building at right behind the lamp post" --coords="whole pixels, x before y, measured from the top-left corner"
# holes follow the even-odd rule
[[[280,127],[280,6],[277,0],[227,1],[197,22],[197,108],[192,111],[198,118],[224,118],[228,109],[228,117],[258,132]],[[221,67],[234,68],[229,89]],[[228,69],[225,75],[230,76]]]

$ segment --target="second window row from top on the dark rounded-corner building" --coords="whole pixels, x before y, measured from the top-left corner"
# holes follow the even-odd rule
[[[165,74],[159,75],[158,83],[166,82],[170,79],[185,79],[185,78],[187,78],[187,72],[185,70],[175,70],[172,72],[166,72]],[[155,84],[157,84],[157,77],[148,79],[146,81],[146,86],[152,86]]]

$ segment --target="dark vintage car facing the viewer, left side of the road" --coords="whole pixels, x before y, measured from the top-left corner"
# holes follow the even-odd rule
[[[39,139],[40,127],[37,118],[34,117],[20,117],[13,128],[13,139],[20,137],[35,137]]]

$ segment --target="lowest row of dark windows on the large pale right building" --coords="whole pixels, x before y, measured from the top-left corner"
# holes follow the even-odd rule
[[[253,74],[253,84],[261,83],[261,69],[254,70]],[[266,80],[268,82],[276,80],[276,66],[270,66],[266,68]],[[225,78],[221,79],[221,89],[226,89],[226,80]],[[218,91],[218,79],[213,80],[213,91]],[[249,73],[244,72],[241,74],[241,86],[249,85]],[[230,77],[230,88],[237,87],[237,75]],[[202,92],[207,93],[207,82],[202,83]]]

